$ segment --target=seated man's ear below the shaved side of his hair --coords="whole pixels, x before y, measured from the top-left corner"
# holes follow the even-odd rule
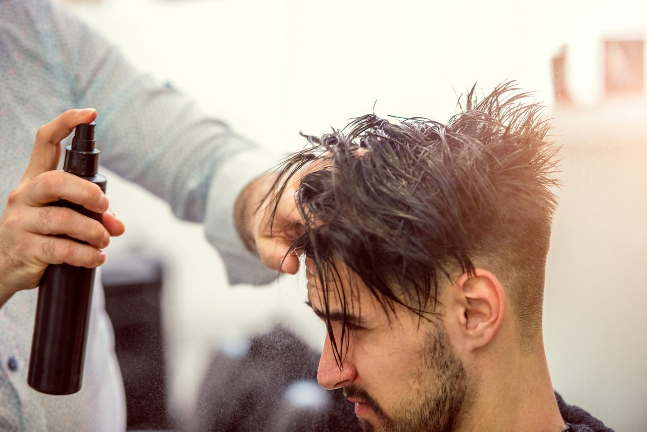
[[[467,351],[483,348],[498,334],[505,315],[505,294],[497,277],[477,268],[452,286],[449,325]]]

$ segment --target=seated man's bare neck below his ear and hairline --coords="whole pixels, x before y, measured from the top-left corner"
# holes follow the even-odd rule
[[[476,397],[467,401],[468,413],[457,430],[564,430],[543,347],[531,355],[509,353],[478,371]]]

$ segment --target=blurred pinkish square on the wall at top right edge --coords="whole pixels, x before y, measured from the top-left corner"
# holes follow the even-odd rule
[[[604,41],[606,96],[640,94],[644,79],[644,39]]]

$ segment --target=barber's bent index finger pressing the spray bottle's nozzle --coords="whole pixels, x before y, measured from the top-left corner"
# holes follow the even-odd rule
[[[74,127],[91,123],[96,118],[96,109],[71,109],[41,126],[36,133],[32,158],[29,160],[23,181],[52,171],[58,166],[61,157],[61,140],[72,133]]]

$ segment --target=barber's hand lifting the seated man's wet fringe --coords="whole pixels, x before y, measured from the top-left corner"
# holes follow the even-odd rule
[[[274,224],[270,225],[276,191],[269,192],[277,176],[276,173],[262,175],[245,187],[236,202],[236,227],[247,248],[258,254],[265,266],[296,274],[299,257],[286,254],[294,239],[303,233],[302,217],[294,200],[299,185],[294,180],[287,186],[278,202]]]

